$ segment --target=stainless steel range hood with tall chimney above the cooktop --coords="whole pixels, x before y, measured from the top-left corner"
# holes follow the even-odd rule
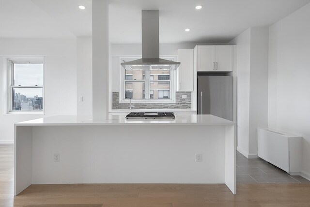
[[[121,65],[126,70],[176,70],[180,64],[159,58],[159,11],[142,10],[142,58]]]

